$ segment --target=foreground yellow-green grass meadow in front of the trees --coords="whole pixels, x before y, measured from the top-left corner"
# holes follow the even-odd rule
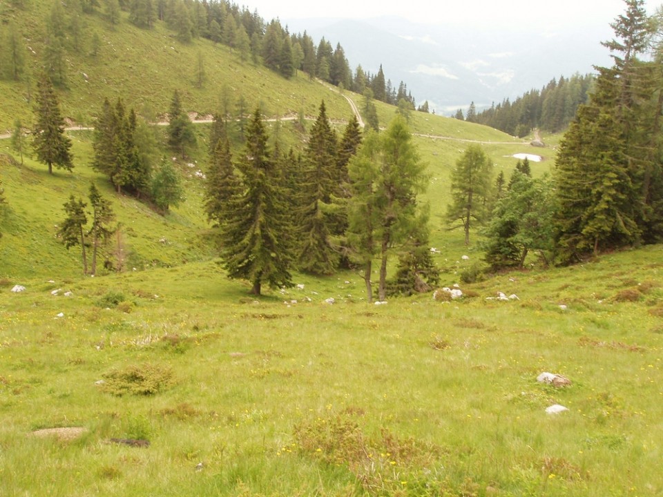
[[[661,271],[651,246],[386,306],[352,274],[248,299],[213,262],[6,284],[0,494],[660,494]],[[95,384],[136,368],[171,377]],[[67,426],[86,435],[30,436]]]

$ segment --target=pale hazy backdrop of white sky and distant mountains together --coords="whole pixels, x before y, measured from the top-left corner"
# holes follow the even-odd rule
[[[645,3],[653,13],[658,3]],[[509,2],[421,0],[334,3],[251,0],[266,21],[277,18],[290,32],[308,32],[317,43],[340,43],[354,71],[403,81],[419,106],[450,115],[470,102],[477,109],[515,99],[560,76],[610,66],[601,41],[614,36],[610,23],[622,0]]]

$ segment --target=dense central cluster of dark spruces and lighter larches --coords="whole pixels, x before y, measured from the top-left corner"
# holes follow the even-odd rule
[[[417,283],[434,275],[420,254],[427,245],[427,215],[416,195],[425,175],[403,117],[381,135],[371,131],[365,141],[353,118],[339,138],[323,102],[297,155],[282,153],[278,142],[268,145],[256,110],[234,160],[221,119],[215,119],[211,142],[205,210],[220,228],[229,276],[249,280],[253,293],[260,293],[262,283],[291,285],[293,269],[327,275],[360,267],[372,299],[371,262],[378,256],[383,299],[392,254],[403,259],[401,293],[408,281],[409,291],[421,291]]]

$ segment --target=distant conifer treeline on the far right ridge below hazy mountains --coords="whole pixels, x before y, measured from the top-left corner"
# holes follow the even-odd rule
[[[474,102],[466,115],[457,110],[454,117],[485,124],[512,136],[525,137],[534,128],[557,133],[566,129],[575,117],[578,106],[586,104],[593,87],[593,75],[564,76],[552,79],[541,90],[532,89],[515,101],[504,99],[477,112]]]

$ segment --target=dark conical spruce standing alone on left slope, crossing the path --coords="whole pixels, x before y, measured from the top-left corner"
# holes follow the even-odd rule
[[[72,155],[69,151],[71,140],[64,134],[64,118],[55,95],[55,90],[48,77],[39,80],[37,88],[37,123],[32,135],[32,145],[37,153],[39,162],[48,164],[48,173],[53,173],[53,167],[68,171],[74,168]]]

